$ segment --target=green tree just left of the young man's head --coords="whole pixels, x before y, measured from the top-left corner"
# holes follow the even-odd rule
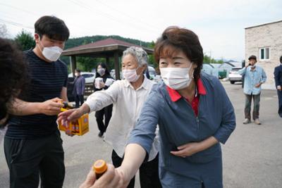
[[[25,30],[22,30],[18,33],[18,35],[16,35],[15,42],[23,51],[35,47],[35,40],[33,39],[31,32],[27,32]]]

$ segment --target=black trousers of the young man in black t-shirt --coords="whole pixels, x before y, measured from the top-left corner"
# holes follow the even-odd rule
[[[38,139],[4,139],[10,187],[61,188],[65,177],[59,131]]]

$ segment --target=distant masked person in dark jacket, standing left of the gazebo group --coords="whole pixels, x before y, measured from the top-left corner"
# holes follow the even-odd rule
[[[73,81],[73,96],[75,108],[79,108],[84,102],[85,78],[80,75],[80,70],[75,70],[75,81]]]

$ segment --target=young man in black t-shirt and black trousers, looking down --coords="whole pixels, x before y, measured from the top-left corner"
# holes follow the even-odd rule
[[[68,101],[66,65],[59,60],[68,27],[54,16],[35,23],[35,49],[26,51],[30,84],[9,113],[4,151],[10,187],[62,187],[65,176],[63,146],[56,116]]]

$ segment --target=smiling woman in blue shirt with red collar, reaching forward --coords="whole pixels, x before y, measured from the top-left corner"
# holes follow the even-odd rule
[[[219,142],[225,144],[235,129],[235,113],[221,82],[201,73],[197,35],[168,27],[156,42],[154,58],[164,82],[154,85],[142,107],[123,163],[114,171],[113,180],[119,181],[111,186],[125,187],[147,160],[158,124],[162,187],[223,187]]]

